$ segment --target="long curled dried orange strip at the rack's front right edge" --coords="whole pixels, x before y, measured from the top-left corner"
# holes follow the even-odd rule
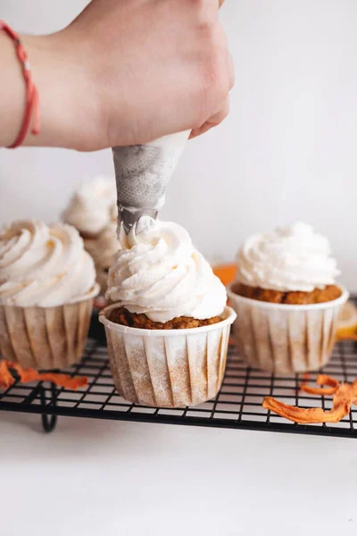
[[[272,397],[265,397],[262,406],[294,423],[339,423],[345,415],[348,415],[356,394],[357,384],[353,389],[353,386],[349,383],[343,383],[336,390],[333,407],[328,411],[324,411],[321,407],[305,409],[303,407],[288,406]]]

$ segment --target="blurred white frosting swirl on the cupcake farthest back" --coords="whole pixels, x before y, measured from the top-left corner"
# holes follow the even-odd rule
[[[79,186],[70,205],[62,214],[63,222],[74,225],[80,233],[96,235],[117,221],[115,180],[96,177]]]

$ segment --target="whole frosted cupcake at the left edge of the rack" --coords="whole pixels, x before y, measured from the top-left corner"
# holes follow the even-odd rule
[[[0,355],[35,369],[79,361],[98,293],[74,227],[13,222],[0,233]]]

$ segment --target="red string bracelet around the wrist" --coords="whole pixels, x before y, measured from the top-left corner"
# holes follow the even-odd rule
[[[23,117],[21,130],[19,136],[15,139],[12,146],[8,147],[9,149],[14,149],[15,147],[21,146],[21,143],[26,138],[32,113],[34,113],[34,122],[31,133],[35,136],[37,136],[39,133],[39,99],[37,87],[32,80],[32,72],[29,64],[28,54],[26,54],[26,51],[22,46],[21,39],[4,21],[0,21],[0,30],[2,29],[4,29],[4,32],[9,36],[9,38],[12,38],[14,42],[16,55],[21,62],[22,74],[26,84],[25,114]]]

